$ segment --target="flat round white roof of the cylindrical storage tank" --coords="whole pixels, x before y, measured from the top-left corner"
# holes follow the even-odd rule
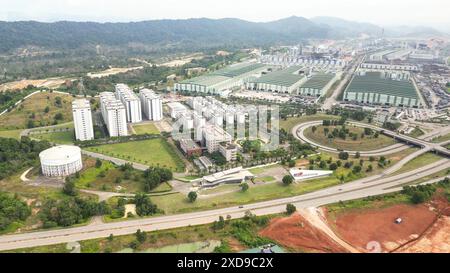
[[[81,149],[77,146],[60,145],[42,151],[39,154],[41,164],[64,165],[81,158]]]

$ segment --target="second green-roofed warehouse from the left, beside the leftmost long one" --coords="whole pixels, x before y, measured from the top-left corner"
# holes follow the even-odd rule
[[[302,66],[291,66],[286,69],[277,70],[264,74],[259,78],[247,80],[245,86],[249,90],[259,90],[277,93],[292,93],[306,81]]]

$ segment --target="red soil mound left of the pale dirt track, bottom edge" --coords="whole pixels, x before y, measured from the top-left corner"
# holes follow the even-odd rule
[[[273,219],[260,235],[294,251],[347,252],[297,213]]]

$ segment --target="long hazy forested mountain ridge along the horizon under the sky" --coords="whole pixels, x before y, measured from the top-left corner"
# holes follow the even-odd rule
[[[289,17],[255,23],[240,19],[152,20],[130,23],[0,22],[0,52],[23,47],[75,49],[83,46],[212,48],[298,43],[305,39],[378,36],[381,28],[333,17]],[[392,31],[392,33],[396,33]]]

